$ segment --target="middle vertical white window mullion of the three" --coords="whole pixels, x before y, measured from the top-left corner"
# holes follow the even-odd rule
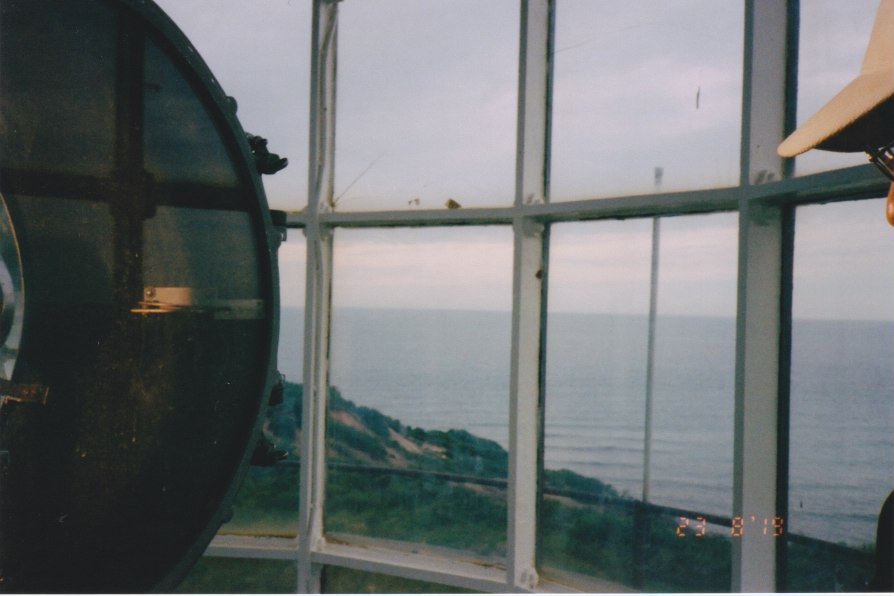
[[[544,225],[525,205],[548,200],[553,0],[522,0],[513,218],[507,590],[537,585],[537,487],[542,428]]]

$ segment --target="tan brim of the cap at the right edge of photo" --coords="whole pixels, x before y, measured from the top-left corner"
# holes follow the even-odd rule
[[[801,124],[777,151],[782,157],[793,157],[813,148],[862,151],[867,140],[854,134],[861,127],[853,125],[892,97],[894,73],[863,73]]]

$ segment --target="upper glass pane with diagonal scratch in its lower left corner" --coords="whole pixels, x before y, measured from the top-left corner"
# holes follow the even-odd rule
[[[340,210],[509,205],[518,2],[339,4]]]

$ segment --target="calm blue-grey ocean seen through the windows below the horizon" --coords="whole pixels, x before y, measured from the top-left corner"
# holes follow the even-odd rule
[[[330,383],[410,426],[508,444],[510,315],[336,309]],[[301,379],[303,311],[284,308],[279,367]],[[643,494],[645,315],[552,313],[544,459]],[[735,321],[659,316],[649,500],[732,515]],[[795,321],[787,529],[875,539],[894,488],[894,322]]]

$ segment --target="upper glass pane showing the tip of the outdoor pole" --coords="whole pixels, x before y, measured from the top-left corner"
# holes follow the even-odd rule
[[[738,183],[741,1],[560,0],[556,14],[553,200]]]

